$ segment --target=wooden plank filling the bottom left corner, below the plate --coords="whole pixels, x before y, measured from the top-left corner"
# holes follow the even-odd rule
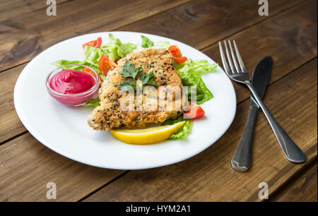
[[[47,201],[49,182],[57,185],[57,201],[76,201],[123,172],[61,157],[30,133],[1,145],[0,155],[1,201]]]

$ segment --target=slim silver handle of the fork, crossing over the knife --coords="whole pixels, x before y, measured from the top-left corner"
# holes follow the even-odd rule
[[[249,81],[245,82],[249,90],[251,90],[252,95],[254,96],[255,100],[259,104],[259,107],[263,110],[271,128],[273,129],[273,133],[275,134],[279,145],[281,145],[281,149],[284,152],[285,157],[288,160],[294,163],[302,163],[306,160],[306,155],[302,150],[296,145],[296,143],[288,136],[288,134],[283,130],[283,128],[278,124],[276,119],[272,116],[269,109],[266,108],[265,104],[262,102],[257,92],[254,90],[252,83]]]

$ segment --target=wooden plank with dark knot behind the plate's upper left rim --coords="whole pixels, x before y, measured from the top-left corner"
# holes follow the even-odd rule
[[[0,21],[0,71],[30,61],[47,47],[104,26],[119,28],[189,0],[77,0],[57,6],[57,16],[45,9]],[[89,16],[88,16],[89,15]]]

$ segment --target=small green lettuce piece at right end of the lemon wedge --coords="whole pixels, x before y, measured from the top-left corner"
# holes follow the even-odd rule
[[[172,136],[170,136],[170,140],[185,139],[191,132],[192,119],[183,119],[182,116],[179,116],[177,119],[167,119],[163,122],[163,125],[176,124],[180,121],[185,121],[184,125],[181,128],[179,128],[179,131],[177,131],[177,133],[174,133],[172,134]]]

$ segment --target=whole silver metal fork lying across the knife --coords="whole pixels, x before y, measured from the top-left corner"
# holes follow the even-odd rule
[[[261,101],[261,98],[259,97],[259,95],[257,95],[257,92],[254,90],[253,85],[250,81],[251,78],[249,77],[249,73],[247,73],[246,71],[245,65],[242,61],[242,58],[240,56],[240,52],[237,48],[235,40],[233,40],[235,52],[233,52],[232,43],[230,42],[230,40],[228,41],[230,52],[228,50],[227,43],[224,42],[225,52],[228,58],[225,57],[221,42],[218,42],[218,44],[220,47],[220,56],[222,58],[223,67],[225,69],[226,74],[235,82],[247,85],[249,90],[252,92],[252,95],[254,95],[254,98],[259,104],[259,107],[261,107],[267,120],[269,121],[269,124],[271,125],[271,128],[273,129],[273,133],[275,133],[275,136],[278,140],[279,145],[281,146],[281,149],[284,152],[285,157],[287,157],[288,160],[294,163],[305,162],[306,155],[304,154],[304,152],[300,150],[298,145],[295,144],[295,142],[288,136],[288,134],[278,124],[276,119],[272,116],[271,112],[269,112],[269,109],[266,108],[265,104]],[[239,62],[238,64],[237,64],[237,61]],[[234,63],[234,66],[232,62]],[[230,65],[230,67],[228,65]]]

